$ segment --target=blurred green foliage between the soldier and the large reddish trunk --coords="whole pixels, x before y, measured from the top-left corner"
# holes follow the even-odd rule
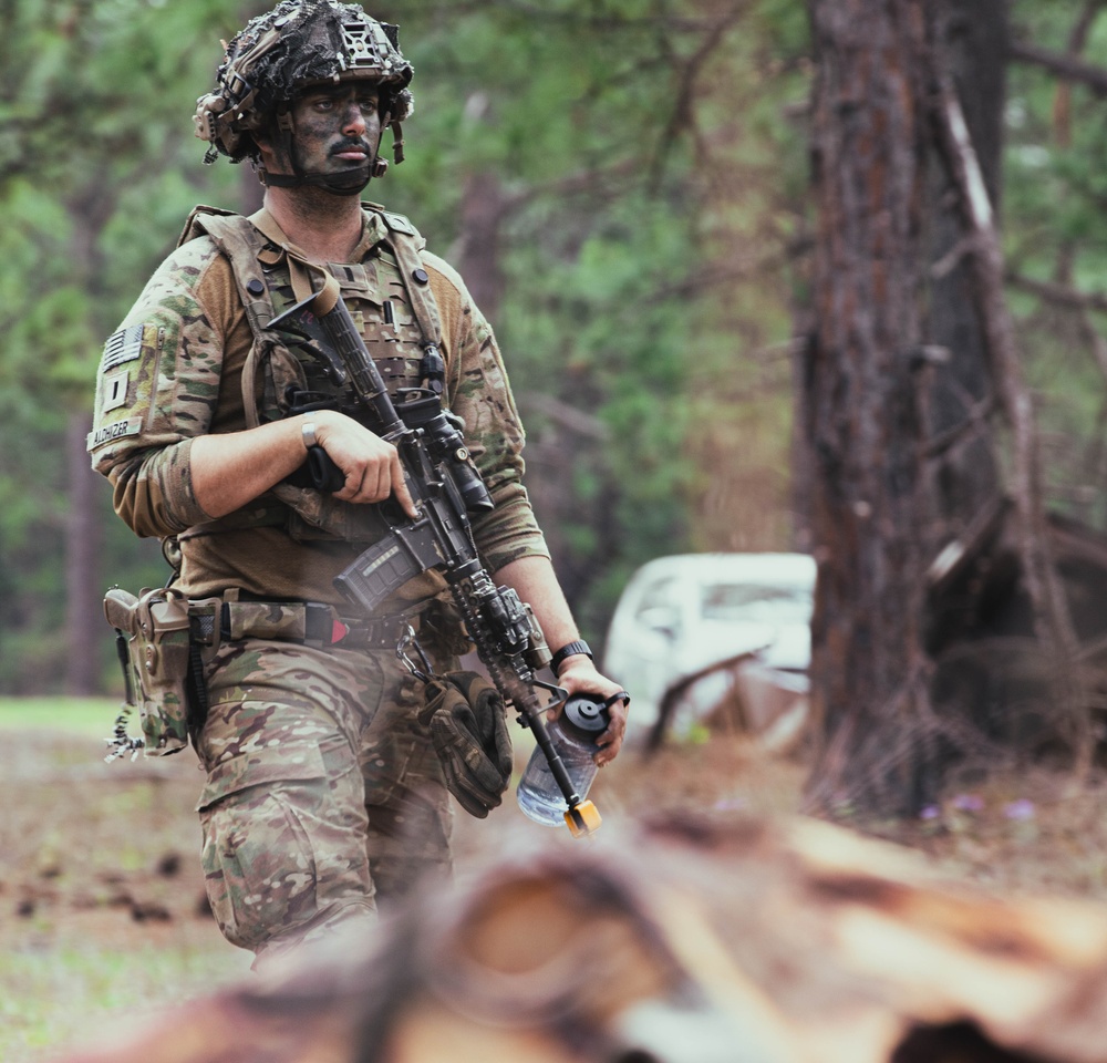
[[[739,285],[716,286],[712,267],[736,239],[778,244],[792,228],[782,205],[804,185],[803,136],[780,109],[806,93],[806,19],[784,3],[573,0],[397,14],[417,110],[408,162],[375,195],[448,249],[461,182],[497,175],[509,208],[495,324],[531,438],[571,455],[571,499],[539,510],[599,641],[639,564],[732,545],[731,500],[721,527],[697,527],[702,460],[712,433],[741,434],[755,413],[731,382],[753,348],[789,334],[788,281],[777,275],[737,310]],[[735,319],[748,343],[735,342]],[[774,476],[788,450],[783,383]],[[567,438],[532,395],[597,417],[604,441]],[[786,495],[778,485],[778,512]],[[787,546],[786,525],[783,513],[755,545]]]

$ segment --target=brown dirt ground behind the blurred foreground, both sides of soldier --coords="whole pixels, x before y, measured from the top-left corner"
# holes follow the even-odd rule
[[[804,775],[797,760],[716,735],[649,760],[628,750],[600,773],[591,796],[614,834],[637,816],[795,814]],[[105,764],[91,737],[0,732],[0,991],[7,998],[0,1020],[10,1030],[7,1044],[0,1036],[0,1056],[9,1063],[49,1059],[49,1047],[71,1043],[82,1008],[99,1015],[115,1002],[142,1009],[245,977],[249,957],[223,941],[204,896],[193,812],[200,784],[187,751]],[[1105,804],[1101,787],[1021,773],[953,792],[918,819],[865,827],[919,849],[952,877],[1007,891],[1100,898],[1107,896]],[[548,828],[524,819],[510,795],[487,821],[459,814],[462,871],[505,833],[527,830]],[[84,999],[84,990],[72,988],[84,984],[84,974],[59,974],[127,956],[147,958],[142,971],[149,985],[139,987],[124,967],[117,980],[127,984]],[[158,969],[151,970],[165,957],[179,961],[170,971],[186,972],[165,976],[180,984],[164,984]],[[41,1008],[20,1003],[20,985],[4,983],[4,967],[29,995],[69,999],[41,1000]]]

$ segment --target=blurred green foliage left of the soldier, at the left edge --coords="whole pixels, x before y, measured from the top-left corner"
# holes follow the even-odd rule
[[[43,689],[63,674],[66,429],[91,405],[104,337],[198,198],[199,153],[186,134],[218,56],[210,41],[226,32],[223,8],[0,9],[0,446],[19,455],[0,467],[0,689]],[[195,39],[203,47],[182,48]],[[101,496],[106,513],[106,484]],[[148,582],[146,550],[102,519],[106,557],[126,558],[107,578]]]

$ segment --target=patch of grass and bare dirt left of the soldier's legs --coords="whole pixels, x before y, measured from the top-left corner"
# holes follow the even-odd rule
[[[249,969],[200,910],[195,755],[105,764],[117,713],[110,698],[0,699],[3,1063],[55,1059]]]

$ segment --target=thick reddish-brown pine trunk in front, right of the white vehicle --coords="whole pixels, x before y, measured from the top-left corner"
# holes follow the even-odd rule
[[[813,457],[813,806],[888,813],[923,789],[927,557],[917,400],[928,149],[923,0],[811,0],[818,73]]]

